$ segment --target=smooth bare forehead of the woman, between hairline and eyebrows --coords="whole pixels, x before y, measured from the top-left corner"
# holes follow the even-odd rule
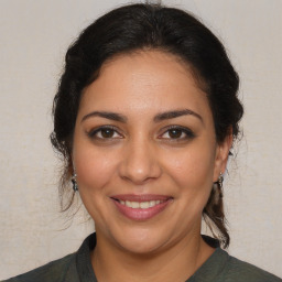
[[[209,110],[189,66],[160,51],[120,55],[105,63],[83,95],[82,110],[150,115],[176,108]]]

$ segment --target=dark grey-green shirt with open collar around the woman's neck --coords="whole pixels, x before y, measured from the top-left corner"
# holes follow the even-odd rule
[[[282,279],[229,256],[215,239],[203,238],[216,250],[185,282],[282,282]],[[2,282],[97,282],[90,261],[95,246],[96,235],[93,234],[77,252]]]

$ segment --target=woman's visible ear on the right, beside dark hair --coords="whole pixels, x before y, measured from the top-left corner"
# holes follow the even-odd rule
[[[226,171],[229,151],[232,145],[232,130],[230,129],[225,140],[220,143],[217,143],[214,169],[214,182],[218,181],[220,172],[224,174]]]

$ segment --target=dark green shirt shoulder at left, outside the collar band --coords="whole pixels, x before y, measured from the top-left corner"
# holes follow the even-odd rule
[[[2,282],[63,282],[67,273],[75,267],[75,253],[23,273]],[[70,282],[70,281],[69,281]]]

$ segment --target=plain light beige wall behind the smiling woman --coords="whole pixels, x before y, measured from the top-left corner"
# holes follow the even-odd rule
[[[67,46],[119,0],[0,0],[0,279],[75,251],[93,231],[58,213],[48,134]],[[137,2],[137,1],[133,1]],[[229,252],[282,276],[282,1],[163,1],[198,15],[241,77],[243,139],[225,181]]]

